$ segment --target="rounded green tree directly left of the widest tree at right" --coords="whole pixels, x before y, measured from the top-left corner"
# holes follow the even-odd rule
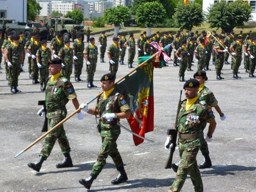
[[[193,26],[200,26],[205,15],[200,4],[188,2],[178,4],[173,15],[174,25],[180,29],[192,30]]]

